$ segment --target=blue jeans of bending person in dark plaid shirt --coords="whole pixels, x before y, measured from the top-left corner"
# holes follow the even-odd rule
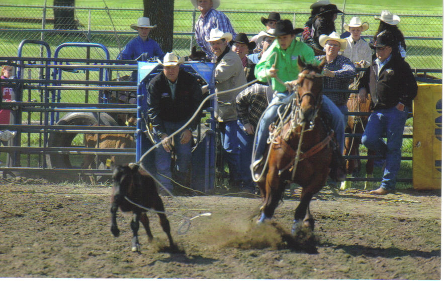
[[[243,130],[244,125],[238,120],[238,144],[240,160],[240,179],[246,186],[254,186],[250,173],[250,162],[252,160],[253,135]]]

